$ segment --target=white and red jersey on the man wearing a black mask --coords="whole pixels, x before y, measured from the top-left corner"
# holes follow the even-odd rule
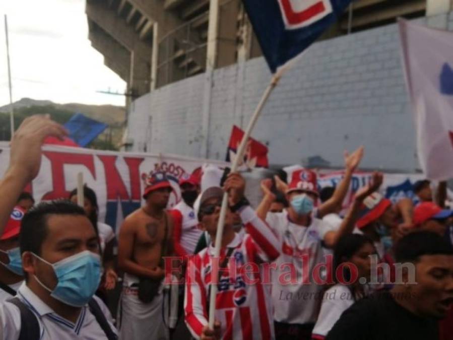
[[[181,200],[170,211],[173,217],[173,244],[178,256],[192,255],[203,231],[198,229],[195,211]]]

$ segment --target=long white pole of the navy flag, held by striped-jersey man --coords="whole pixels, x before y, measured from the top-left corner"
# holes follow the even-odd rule
[[[280,78],[281,78],[280,73],[275,74],[272,77],[271,83],[266,88],[266,91],[264,92],[263,97],[261,98],[260,102],[258,103],[258,106],[256,106],[255,112],[253,113],[253,115],[250,118],[250,122],[248,123],[247,129],[244,132],[244,137],[242,138],[239,149],[237,150],[236,157],[234,158],[233,165],[231,167],[231,172],[236,172],[237,168],[239,167],[239,164],[241,164],[241,160],[244,157],[245,147],[247,145],[247,141],[250,137],[251,131],[253,130],[253,127],[255,126],[256,121],[260,117],[261,111],[263,110],[263,107],[266,104],[266,101],[268,100],[272,91],[277,86]],[[217,233],[216,233],[217,236],[216,236],[216,243],[215,243],[215,248],[214,248],[214,257],[219,257],[219,255],[220,255],[220,247],[222,245],[223,227],[225,226],[225,215],[226,215],[227,208],[228,208],[228,193],[225,192],[223,194],[222,208],[220,209],[219,222],[217,225]],[[214,329],[214,315],[215,315],[215,311],[216,311],[216,296],[217,296],[217,280],[212,279],[212,282],[214,282],[214,284],[211,283],[211,296],[210,296],[210,300],[209,300],[209,328]]]

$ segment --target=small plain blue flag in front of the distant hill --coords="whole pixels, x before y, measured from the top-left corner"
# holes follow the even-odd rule
[[[98,137],[107,126],[107,124],[88,118],[82,113],[76,113],[64,124],[69,131],[69,137],[83,148]]]

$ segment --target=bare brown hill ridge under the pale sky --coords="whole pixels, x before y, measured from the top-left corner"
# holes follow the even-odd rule
[[[71,111],[74,113],[83,113],[84,115],[102,121],[106,124],[118,126],[124,123],[125,108],[114,105],[86,105],[78,103],[57,104],[50,100],[35,100],[31,98],[22,98],[13,103],[14,109],[21,109],[31,106],[53,106],[56,109]],[[10,105],[0,106],[0,112],[10,112]]]

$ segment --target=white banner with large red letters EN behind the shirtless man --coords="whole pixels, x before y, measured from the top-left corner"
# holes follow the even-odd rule
[[[9,164],[10,149],[0,143],[0,178]],[[143,178],[150,171],[165,172],[173,186],[169,206],[180,199],[178,180],[184,174],[208,163],[217,167],[228,163],[143,153],[109,152],[83,148],[44,146],[41,169],[26,188],[36,201],[68,198],[77,187],[77,173],[97,194],[99,220],[117,231],[125,216],[138,209],[144,191]]]

